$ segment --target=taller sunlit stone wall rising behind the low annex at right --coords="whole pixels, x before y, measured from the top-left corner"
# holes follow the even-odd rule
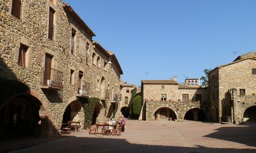
[[[252,69],[256,68],[256,60],[243,59],[225,66],[217,67],[210,72],[210,103],[212,110],[212,120],[227,121],[232,115],[232,101],[229,89],[245,89],[246,95],[256,93],[256,75],[252,75]],[[215,75],[215,80],[213,80]],[[214,95],[213,95],[214,94]],[[213,98],[214,97],[214,98]],[[215,109],[218,109],[216,111]],[[216,112],[219,114],[216,115]]]

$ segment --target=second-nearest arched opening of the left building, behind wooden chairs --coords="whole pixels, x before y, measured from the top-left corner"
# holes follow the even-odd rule
[[[62,123],[68,121],[80,121],[79,112],[82,109],[82,104],[79,101],[72,101],[65,109]]]

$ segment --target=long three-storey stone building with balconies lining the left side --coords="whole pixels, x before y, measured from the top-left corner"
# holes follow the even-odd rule
[[[90,97],[101,99],[95,120],[113,115],[123,71],[68,4],[3,0],[0,11],[2,134],[50,137],[64,121],[83,127]]]

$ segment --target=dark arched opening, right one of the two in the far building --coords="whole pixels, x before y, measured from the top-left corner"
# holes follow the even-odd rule
[[[185,120],[193,120],[193,121],[205,121],[206,115],[204,110],[199,108],[190,109],[187,111],[184,117]]]

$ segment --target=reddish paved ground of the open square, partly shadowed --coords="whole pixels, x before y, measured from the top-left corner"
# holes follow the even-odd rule
[[[73,137],[18,152],[256,152],[256,125],[127,120],[121,136]]]

